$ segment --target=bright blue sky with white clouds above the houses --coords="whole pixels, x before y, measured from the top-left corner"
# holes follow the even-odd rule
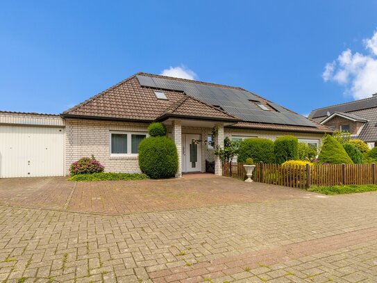
[[[61,113],[172,68],[309,113],[377,91],[376,11],[368,0],[1,1],[0,110]]]

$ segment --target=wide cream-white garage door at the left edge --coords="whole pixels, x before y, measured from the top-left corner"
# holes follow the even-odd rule
[[[64,129],[0,126],[0,177],[64,175]]]

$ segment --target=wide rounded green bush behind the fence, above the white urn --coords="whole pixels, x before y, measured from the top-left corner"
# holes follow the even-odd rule
[[[274,142],[267,138],[246,138],[246,140],[242,140],[237,161],[244,163],[248,158],[252,158],[255,163],[274,163]]]

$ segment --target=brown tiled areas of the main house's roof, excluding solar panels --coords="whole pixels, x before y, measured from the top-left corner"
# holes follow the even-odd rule
[[[63,113],[63,116],[114,120],[136,120],[140,122],[151,122],[155,120],[163,120],[171,116],[181,116],[184,118],[226,120],[234,123],[234,125],[231,127],[243,129],[272,129],[277,131],[303,131],[316,133],[333,131],[328,127],[318,124],[317,122],[315,122],[316,127],[240,122],[240,119],[226,113],[221,108],[206,104],[205,102],[202,102],[201,100],[178,90],[162,90],[165,93],[167,100],[157,99],[153,92],[153,88],[140,86],[140,83],[136,77],[137,75],[169,78],[177,81],[188,81],[191,83],[193,82],[187,79],[178,79],[156,74],[137,73],[130,76],[128,79],[117,83],[115,86],[108,88],[108,90],[104,90],[98,95],[87,99],[85,102],[70,108]],[[201,81],[194,81],[194,83],[219,86],[221,88],[244,90],[243,88],[224,86],[215,83],[205,83]],[[253,92],[251,93],[255,95]],[[267,99],[260,97],[259,95],[255,96],[257,96],[260,99],[260,103],[265,104],[270,111],[276,111],[276,109],[269,106],[269,101]],[[290,110],[287,109],[287,111]],[[294,113],[293,111],[290,112]]]

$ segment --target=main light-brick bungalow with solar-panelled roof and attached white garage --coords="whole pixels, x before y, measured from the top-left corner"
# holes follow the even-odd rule
[[[137,146],[154,121],[176,143],[177,177],[204,172],[206,160],[221,175],[209,143],[214,127],[220,147],[225,136],[287,134],[318,146],[332,132],[242,88],[138,73],[61,115],[0,112],[0,177],[67,175],[72,162],[92,154],[107,172],[140,172]]]

